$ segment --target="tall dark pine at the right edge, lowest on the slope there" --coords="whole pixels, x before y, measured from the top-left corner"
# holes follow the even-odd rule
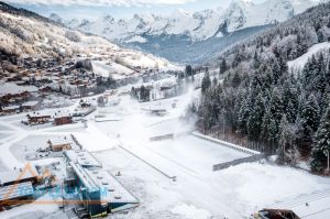
[[[316,143],[311,153],[310,166],[315,172],[321,172],[327,166],[327,155],[330,153],[330,107],[322,118],[316,135]]]

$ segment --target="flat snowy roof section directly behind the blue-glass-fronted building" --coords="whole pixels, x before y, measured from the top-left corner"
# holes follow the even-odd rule
[[[88,151],[65,151],[64,155],[82,167],[102,167],[102,164]]]

